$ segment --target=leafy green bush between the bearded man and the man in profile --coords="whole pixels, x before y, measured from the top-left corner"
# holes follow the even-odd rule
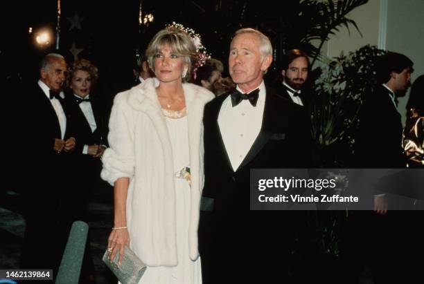
[[[383,53],[366,45],[319,69],[310,117],[320,167],[349,166],[363,96],[376,86],[376,57]]]

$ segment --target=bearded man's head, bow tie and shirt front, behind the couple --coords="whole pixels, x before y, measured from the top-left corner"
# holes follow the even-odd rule
[[[309,58],[299,49],[288,50],[283,59],[281,95],[295,104],[306,106],[308,98],[302,87],[308,79]]]

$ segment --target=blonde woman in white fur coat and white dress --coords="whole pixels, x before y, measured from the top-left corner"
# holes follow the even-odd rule
[[[112,108],[101,173],[114,185],[108,248],[121,261],[129,245],[148,265],[140,283],[202,283],[202,116],[213,94],[183,84],[196,55],[186,32],[159,31],[146,50],[157,79],[119,93]]]

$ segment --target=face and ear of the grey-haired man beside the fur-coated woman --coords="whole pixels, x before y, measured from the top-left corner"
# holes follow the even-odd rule
[[[247,92],[262,82],[263,72],[270,67],[272,56],[262,58],[258,35],[242,33],[231,41],[228,62],[233,82]]]

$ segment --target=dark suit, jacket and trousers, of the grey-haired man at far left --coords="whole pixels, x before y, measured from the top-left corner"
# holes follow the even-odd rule
[[[75,138],[69,107],[60,101],[67,116],[64,140]],[[26,218],[21,267],[56,269],[69,233],[67,209],[63,206],[73,189],[71,155],[53,150],[55,139],[62,139],[60,124],[50,99],[37,83],[24,87],[17,106],[17,158],[21,165],[17,182]],[[39,254],[39,245],[49,249]]]

